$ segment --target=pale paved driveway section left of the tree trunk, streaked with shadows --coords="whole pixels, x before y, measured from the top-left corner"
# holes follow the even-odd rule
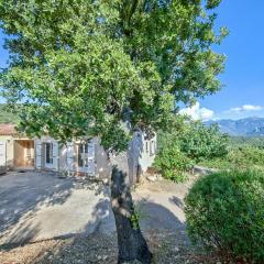
[[[0,244],[114,230],[109,189],[50,173],[0,176]]]

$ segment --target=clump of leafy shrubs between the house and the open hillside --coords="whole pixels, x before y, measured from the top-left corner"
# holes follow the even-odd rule
[[[165,178],[174,182],[186,179],[193,165],[228,154],[229,138],[217,125],[207,127],[199,121],[175,117],[169,133],[158,133],[158,154],[154,166]]]

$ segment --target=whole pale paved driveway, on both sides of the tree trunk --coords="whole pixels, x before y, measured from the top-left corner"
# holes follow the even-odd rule
[[[166,229],[188,243],[183,211],[191,180],[145,183],[133,193],[143,231]],[[0,245],[116,231],[109,187],[48,173],[0,176]]]

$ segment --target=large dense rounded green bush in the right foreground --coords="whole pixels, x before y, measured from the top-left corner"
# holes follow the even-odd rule
[[[264,263],[264,173],[222,172],[202,177],[185,201],[194,243],[245,263]]]

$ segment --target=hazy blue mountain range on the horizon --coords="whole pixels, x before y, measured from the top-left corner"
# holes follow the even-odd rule
[[[245,118],[240,120],[208,121],[210,125],[217,123],[223,133],[234,136],[264,136],[264,118]]]

